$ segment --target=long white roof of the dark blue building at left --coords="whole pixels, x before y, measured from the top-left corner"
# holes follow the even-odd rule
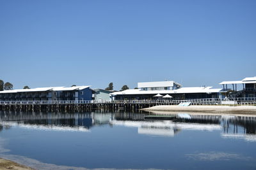
[[[75,87],[39,87],[35,89],[15,89],[15,90],[4,90],[0,91],[0,94],[3,93],[17,93],[17,92],[46,92],[49,90],[53,91],[67,91],[67,90],[83,90],[90,86],[75,86]]]

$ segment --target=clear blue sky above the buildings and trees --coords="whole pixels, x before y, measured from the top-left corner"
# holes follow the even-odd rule
[[[0,79],[14,89],[221,87],[256,76],[255,9],[255,0],[0,0]]]

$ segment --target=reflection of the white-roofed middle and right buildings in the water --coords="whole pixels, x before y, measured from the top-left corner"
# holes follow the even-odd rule
[[[125,125],[125,126],[135,126],[138,127],[138,132],[143,134],[154,134],[154,135],[164,135],[164,136],[172,136],[175,134],[175,130],[170,130],[170,125],[162,126],[140,126],[135,125],[136,123],[132,123],[129,120],[135,120],[133,122],[144,121],[144,116],[146,114],[132,114],[132,113],[118,113],[115,115],[116,120],[125,120],[120,122],[114,122],[114,124]],[[148,114],[147,114],[148,115]],[[128,121],[127,121],[128,120]],[[152,121],[153,122],[153,121]],[[113,123],[113,122],[111,122]],[[183,123],[183,124],[182,124]],[[189,115],[189,118],[179,117],[177,114],[177,119],[173,120],[172,124],[176,124],[176,129],[179,130],[202,130],[205,128],[207,131],[220,130],[223,129],[223,134],[225,136],[234,136],[234,134],[239,134],[239,138],[241,138],[241,134],[250,135],[250,139],[252,139],[252,135],[256,134],[256,117],[241,117],[234,115]],[[211,127],[214,127],[211,129]],[[222,128],[220,128],[222,127]],[[171,128],[172,129],[172,128]],[[244,135],[242,135],[244,136]]]

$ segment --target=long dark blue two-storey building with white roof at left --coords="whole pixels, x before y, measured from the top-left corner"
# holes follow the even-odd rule
[[[0,101],[92,101],[92,89],[74,86],[4,90]]]

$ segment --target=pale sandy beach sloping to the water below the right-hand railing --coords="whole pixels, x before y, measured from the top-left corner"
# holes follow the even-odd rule
[[[145,111],[186,111],[205,113],[247,113],[256,114],[256,106],[173,106],[161,105],[144,108]]]

